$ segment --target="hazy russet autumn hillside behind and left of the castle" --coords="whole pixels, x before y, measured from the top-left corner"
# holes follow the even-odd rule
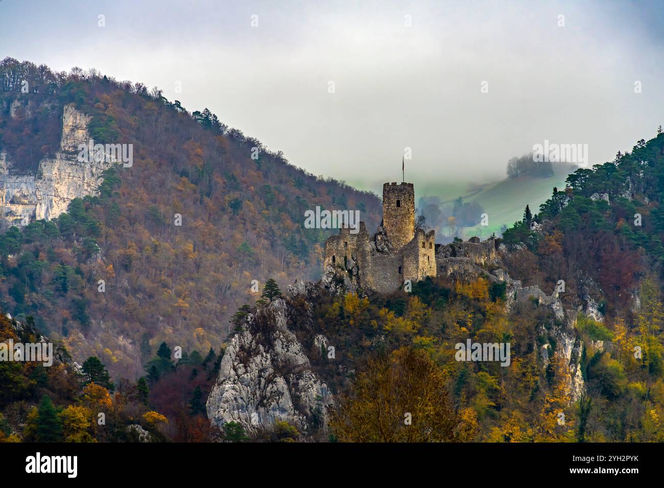
[[[11,58],[0,87],[0,152],[13,172],[56,150],[64,104],[92,116],[96,143],[133,144],[133,165],[108,171],[100,195],[0,236],[0,307],[34,315],[74,357],[98,355],[114,374],[143,374],[164,340],[217,348],[253,280],[260,292],[268,278],[318,278],[331,231],[303,232],[305,210],[352,208],[369,228],[379,222],[375,195],[307,174],[157,88]]]

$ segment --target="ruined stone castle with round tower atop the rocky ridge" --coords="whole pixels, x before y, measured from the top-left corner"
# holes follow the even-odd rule
[[[380,293],[436,276],[434,230],[415,230],[415,191],[412,183],[382,186],[382,224],[369,234],[365,222],[359,232],[348,226],[325,242],[325,272],[349,274],[360,287]]]

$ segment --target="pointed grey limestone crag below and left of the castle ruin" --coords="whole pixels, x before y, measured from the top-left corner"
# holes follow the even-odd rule
[[[300,432],[325,430],[333,404],[327,385],[287,327],[289,305],[276,299],[249,315],[230,341],[207,400],[211,422],[238,422],[248,432],[285,420]]]

